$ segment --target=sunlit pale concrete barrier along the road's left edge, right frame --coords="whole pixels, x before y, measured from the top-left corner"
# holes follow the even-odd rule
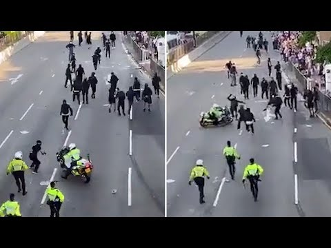
[[[192,52],[189,52],[185,56],[181,57],[181,59],[179,59],[172,65],[167,65],[167,79],[170,79],[172,76],[174,76],[174,74],[177,74],[178,72],[183,70],[183,68],[188,66],[192,61],[198,59],[199,56],[201,56],[202,54],[213,48],[215,45],[223,41],[223,39],[228,37],[231,32],[232,31],[223,31],[219,32],[218,34],[215,34],[213,37],[199,45],[199,47],[192,50]]]

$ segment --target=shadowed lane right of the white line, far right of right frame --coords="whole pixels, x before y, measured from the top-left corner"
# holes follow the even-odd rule
[[[330,129],[309,115],[303,103],[299,103],[295,116],[299,207],[302,216],[330,216]]]

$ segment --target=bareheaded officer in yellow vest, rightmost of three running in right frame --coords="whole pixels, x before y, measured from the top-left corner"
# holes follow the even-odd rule
[[[263,168],[254,162],[254,158],[250,158],[250,164],[243,170],[243,183],[247,178],[250,181],[250,189],[253,192],[255,190],[256,196],[254,196],[254,201],[257,201],[257,194],[259,188],[257,186],[258,181],[261,181],[260,176],[263,174]]]

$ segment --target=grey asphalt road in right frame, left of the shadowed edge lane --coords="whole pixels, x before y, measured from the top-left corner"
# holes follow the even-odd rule
[[[268,55],[263,52],[261,65],[256,65],[254,51],[245,49],[248,34],[256,36],[258,32],[245,32],[243,38],[239,37],[239,32],[232,32],[168,80],[168,216],[299,216],[294,205],[296,119],[291,110],[283,107],[282,120],[265,121],[262,110],[267,102],[261,101],[259,88],[256,99],[250,90],[250,100],[245,101],[246,107],[250,107],[257,118],[254,136],[243,127],[237,130],[237,122],[227,127],[199,127],[200,112],[208,111],[213,103],[229,106],[227,96],[230,93],[243,101],[239,86],[230,87],[225,63],[230,60],[236,63],[239,73],[248,74],[250,79],[254,73],[260,80],[263,76],[268,77]],[[270,38],[270,34],[266,35]],[[269,48],[272,49],[271,40]],[[275,64],[279,54],[270,51],[270,57]],[[274,71],[272,76],[275,77]],[[229,178],[222,155],[228,140],[237,145],[241,160],[237,162],[235,180],[221,183]],[[243,168],[252,157],[265,169],[257,203],[254,203],[250,190],[243,189],[241,183]],[[188,185],[190,170],[198,158],[203,159],[210,172],[210,180],[205,183],[204,205],[199,204],[197,187]]]

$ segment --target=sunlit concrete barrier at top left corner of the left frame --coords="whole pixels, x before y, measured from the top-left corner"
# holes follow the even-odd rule
[[[27,37],[17,41],[13,45],[0,52],[0,64],[10,58],[13,54],[21,51],[26,46],[30,45],[32,42],[36,41],[39,37],[43,36],[46,31],[34,31],[28,34]]]

